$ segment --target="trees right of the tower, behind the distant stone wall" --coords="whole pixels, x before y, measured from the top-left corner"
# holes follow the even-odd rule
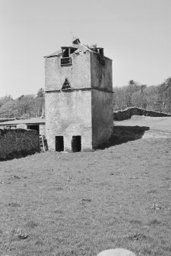
[[[171,77],[158,86],[147,86],[130,80],[127,86],[115,87],[114,92],[114,111],[136,106],[171,113]]]

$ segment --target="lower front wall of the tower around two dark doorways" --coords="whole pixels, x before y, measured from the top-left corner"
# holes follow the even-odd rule
[[[81,150],[92,148],[91,91],[46,92],[46,139],[55,151],[55,136],[64,137],[64,150],[71,151],[72,136],[81,135]]]

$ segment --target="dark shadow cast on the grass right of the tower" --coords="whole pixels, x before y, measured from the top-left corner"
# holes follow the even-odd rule
[[[150,130],[150,127],[147,126],[113,126],[111,138],[106,144],[103,144],[100,149],[138,140],[142,138],[144,132],[148,130]]]

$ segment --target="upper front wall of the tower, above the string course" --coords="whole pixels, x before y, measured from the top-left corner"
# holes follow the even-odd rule
[[[72,53],[71,66],[61,66],[61,58],[45,58],[45,91],[62,89],[65,78],[73,89],[90,88],[90,52]]]

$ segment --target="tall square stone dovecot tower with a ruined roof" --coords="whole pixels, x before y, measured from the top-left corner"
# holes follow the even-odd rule
[[[52,151],[96,149],[112,134],[112,60],[72,45],[45,57],[46,138]]]

